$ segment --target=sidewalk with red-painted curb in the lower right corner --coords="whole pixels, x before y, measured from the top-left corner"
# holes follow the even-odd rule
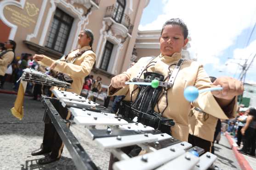
[[[256,157],[240,154],[238,152],[238,148],[233,146],[233,143],[235,142],[235,139],[226,132],[226,137],[228,138],[228,142],[232,147],[233,153],[236,157],[236,159],[239,162],[239,165],[242,170],[256,170]]]

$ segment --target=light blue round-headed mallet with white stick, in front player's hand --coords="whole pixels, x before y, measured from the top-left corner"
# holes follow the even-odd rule
[[[202,89],[202,90],[198,90],[197,88],[195,88],[193,86],[188,86],[184,90],[184,97],[189,102],[193,102],[195,99],[198,98],[199,93],[203,93],[203,92],[207,92],[207,91],[222,90],[222,89],[223,89],[222,87],[217,87],[217,88],[205,88],[205,89]]]

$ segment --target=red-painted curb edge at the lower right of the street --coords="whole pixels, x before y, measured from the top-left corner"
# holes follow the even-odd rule
[[[230,135],[228,134],[228,132],[225,133],[225,136],[227,137],[228,139],[228,143],[231,145],[231,148],[233,150],[233,153],[241,167],[242,170],[253,170],[250,166],[250,164],[248,163],[248,161],[245,159],[245,157],[240,154],[237,150],[236,147],[233,147],[233,140],[232,138],[230,137]]]

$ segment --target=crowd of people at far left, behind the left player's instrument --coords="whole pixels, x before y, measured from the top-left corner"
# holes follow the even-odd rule
[[[31,62],[32,55],[29,53],[22,53],[21,56],[15,55],[16,42],[8,40],[5,43],[0,43],[0,88],[5,89],[5,82],[8,79],[13,83],[12,89],[17,91],[20,84],[20,77],[23,74],[23,69],[32,68],[49,75],[53,75],[52,71],[49,71],[49,67],[40,65],[38,62]],[[49,86],[42,86],[40,84],[34,84],[28,82],[26,93],[33,96],[32,99],[38,100],[42,93],[51,95]]]

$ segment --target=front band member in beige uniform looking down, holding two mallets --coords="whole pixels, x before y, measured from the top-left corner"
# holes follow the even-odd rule
[[[125,85],[132,78],[146,78],[142,73],[155,72],[164,76],[167,82],[181,59],[181,50],[188,43],[188,28],[182,20],[176,18],[165,22],[159,38],[161,54],[147,62],[144,58],[127,71],[111,79],[108,95],[125,95],[125,101],[134,102],[139,90],[137,85]],[[206,56],[207,57],[207,56]],[[146,66],[147,65],[147,66]],[[146,66],[143,68],[143,66]],[[231,77],[219,77],[214,83],[210,82],[202,65],[196,61],[185,60],[177,73],[171,88],[163,89],[154,106],[154,111],[164,118],[173,119],[175,125],[169,128],[171,135],[182,141],[188,141],[188,114],[190,102],[184,96],[184,89],[195,86],[198,89],[222,86],[222,91],[204,92],[192,104],[212,116],[228,119],[236,114],[236,96],[244,90],[240,81]]]

